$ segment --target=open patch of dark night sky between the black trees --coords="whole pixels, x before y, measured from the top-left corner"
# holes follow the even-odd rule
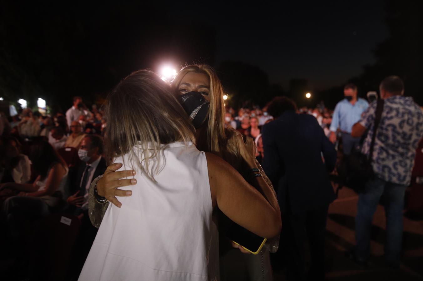
[[[388,36],[382,1],[296,3],[223,14],[217,24],[217,62],[242,60],[260,66],[271,82],[291,78],[331,87],[374,63],[371,53]]]

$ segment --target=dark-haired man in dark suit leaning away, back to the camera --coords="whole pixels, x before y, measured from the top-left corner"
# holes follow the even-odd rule
[[[323,280],[327,210],[335,199],[329,180],[335,168],[335,147],[316,118],[297,114],[289,98],[274,98],[267,112],[275,120],[262,128],[262,165],[282,213],[280,248],[287,255],[288,278],[306,279],[303,246],[308,237],[312,262],[308,277]]]

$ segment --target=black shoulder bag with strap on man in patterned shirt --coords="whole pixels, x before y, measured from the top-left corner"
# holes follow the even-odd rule
[[[374,177],[373,167],[371,162],[373,161],[373,149],[374,141],[376,139],[376,130],[379,127],[379,123],[382,117],[384,100],[379,99],[376,106],[376,117],[374,120],[373,136],[371,139],[369,156],[356,150],[351,153],[347,159],[347,175],[346,175],[346,186],[352,188],[355,192],[361,193],[365,189],[365,184],[368,180]]]

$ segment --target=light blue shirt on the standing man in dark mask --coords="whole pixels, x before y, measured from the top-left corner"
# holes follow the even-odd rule
[[[354,105],[344,98],[335,106],[330,131],[336,132],[340,128],[341,131],[351,134],[352,126],[360,121],[361,114],[368,106],[368,102],[363,98],[358,98]]]

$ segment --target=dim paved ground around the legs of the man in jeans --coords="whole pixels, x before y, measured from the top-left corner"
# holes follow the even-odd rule
[[[327,280],[423,280],[423,221],[404,217],[403,256],[399,269],[385,265],[383,246],[386,234],[385,210],[379,205],[373,220],[371,252],[367,269],[356,265],[344,252],[355,245],[354,218],[358,196],[342,188],[329,207],[326,235]],[[274,280],[286,280],[283,269],[274,266]]]

